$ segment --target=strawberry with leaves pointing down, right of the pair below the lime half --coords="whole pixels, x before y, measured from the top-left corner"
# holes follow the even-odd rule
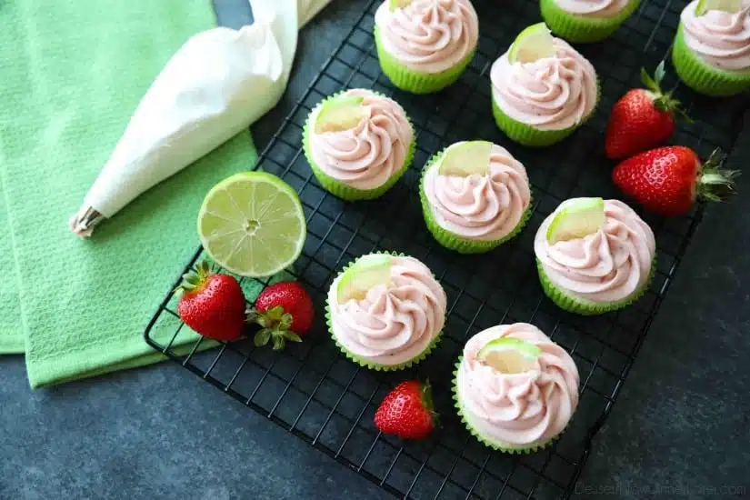
[[[283,349],[287,340],[302,342],[313,325],[315,306],[307,290],[295,281],[283,281],[268,286],[255,300],[255,311],[247,321],[263,326],[255,334],[255,345],[274,341],[274,349]]]

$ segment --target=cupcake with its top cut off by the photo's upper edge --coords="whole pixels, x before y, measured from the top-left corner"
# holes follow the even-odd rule
[[[635,12],[641,0],[541,0],[542,18],[568,42],[604,40]]]

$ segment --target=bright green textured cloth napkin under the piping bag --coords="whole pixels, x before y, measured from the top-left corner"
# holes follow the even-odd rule
[[[215,25],[211,2],[3,0],[0,25],[0,229],[12,236],[0,247],[0,351],[16,352],[22,332],[32,387],[155,362],[144,327],[195,250],[205,193],[254,164],[249,133],[140,196],[90,240],[72,235],[67,219],[169,57]],[[164,316],[154,335],[166,341],[176,320]],[[193,340],[184,328],[177,342]]]

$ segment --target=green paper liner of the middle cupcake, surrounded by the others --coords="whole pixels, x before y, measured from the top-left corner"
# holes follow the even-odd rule
[[[482,254],[485,252],[489,252],[493,248],[503,245],[506,241],[510,240],[515,235],[518,235],[518,233],[521,232],[529,217],[531,216],[533,206],[531,200],[529,201],[529,206],[528,208],[526,208],[524,215],[521,216],[521,220],[518,221],[518,224],[515,226],[513,231],[497,240],[481,241],[467,239],[460,235],[455,235],[454,233],[451,233],[450,231],[445,229],[445,227],[437,224],[435,215],[433,215],[432,206],[427,199],[427,195],[425,195],[425,175],[427,174],[427,170],[429,170],[430,167],[435,164],[435,162],[440,161],[440,159],[444,155],[445,149],[439,153],[436,153],[429,159],[429,161],[427,161],[425,168],[422,170],[422,180],[419,183],[419,199],[422,202],[422,214],[425,216],[425,224],[427,225],[427,229],[430,230],[430,233],[432,233],[432,235],[435,237],[437,243],[445,246],[445,248],[449,250],[455,250],[459,254]]]

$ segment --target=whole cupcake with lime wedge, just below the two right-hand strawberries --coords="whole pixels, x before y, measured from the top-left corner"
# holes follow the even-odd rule
[[[643,295],[655,247],[654,233],[632,208],[602,198],[566,200],[534,241],[545,294],[579,315],[615,311]]]

